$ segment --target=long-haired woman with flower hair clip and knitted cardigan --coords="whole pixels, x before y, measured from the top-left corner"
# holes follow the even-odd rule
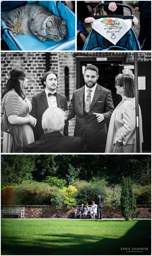
[[[36,125],[36,119],[29,115],[32,106],[23,93],[28,83],[25,70],[14,68],[6,78],[7,84],[2,94],[1,106],[3,153],[18,153],[23,152],[23,145],[34,142],[31,126]]]

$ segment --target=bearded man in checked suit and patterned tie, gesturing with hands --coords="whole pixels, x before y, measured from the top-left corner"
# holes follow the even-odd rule
[[[82,137],[91,153],[105,152],[107,127],[114,104],[111,91],[97,84],[98,68],[85,68],[85,85],[73,92],[66,120],[76,117],[74,136]]]

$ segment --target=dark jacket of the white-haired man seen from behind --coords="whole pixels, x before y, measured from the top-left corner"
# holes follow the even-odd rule
[[[43,134],[42,137],[23,147],[25,153],[88,153],[80,137],[63,136],[60,132]]]

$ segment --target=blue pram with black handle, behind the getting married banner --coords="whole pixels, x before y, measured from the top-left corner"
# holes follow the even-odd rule
[[[94,10],[94,19],[99,18],[121,18],[121,19],[133,19],[133,10],[129,5],[116,4],[123,7],[126,7],[130,10],[131,16],[123,16],[123,15],[96,15],[97,9],[100,6],[109,5],[99,4],[95,7]],[[131,29],[125,33],[122,38],[114,45],[110,41],[108,41],[105,37],[95,31],[93,28],[91,29],[87,40],[83,46],[82,51],[140,51],[140,44],[138,42],[136,33],[133,29],[133,24]]]

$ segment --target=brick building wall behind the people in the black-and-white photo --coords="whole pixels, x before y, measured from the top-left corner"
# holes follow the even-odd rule
[[[50,52],[50,70],[58,73],[58,92],[65,94],[64,68],[69,68],[69,98],[76,89],[76,57],[126,57],[126,62],[133,62],[133,52]],[[138,62],[151,61],[150,52],[139,52]],[[22,67],[28,75],[28,88],[25,94],[29,100],[32,96],[44,90],[40,83],[42,75],[46,72],[45,52],[2,52],[1,53],[1,90],[6,86],[6,74],[14,68]],[[70,101],[69,101],[70,102]],[[69,104],[68,102],[68,104]],[[73,135],[75,119],[69,122],[69,135]]]

